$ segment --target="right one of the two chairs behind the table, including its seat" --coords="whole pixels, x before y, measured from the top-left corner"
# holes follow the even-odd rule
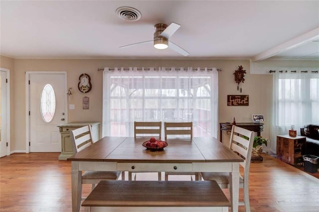
[[[193,137],[193,122],[164,122],[165,139],[167,135],[189,135]],[[195,175],[195,180],[199,180],[198,172],[165,172],[165,181],[169,175]],[[192,180],[192,178],[190,178]]]

